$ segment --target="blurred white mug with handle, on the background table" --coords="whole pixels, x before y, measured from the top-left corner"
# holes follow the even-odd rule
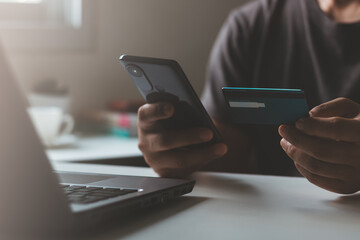
[[[74,128],[74,119],[59,107],[30,107],[28,113],[42,143],[47,147],[53,146],[57,138],[70,134]]]

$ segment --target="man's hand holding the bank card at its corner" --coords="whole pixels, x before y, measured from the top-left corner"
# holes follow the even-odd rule
[[[281,147],[311,183],[336,193],[360,190],[360,104],[337,98],[279,133]]]

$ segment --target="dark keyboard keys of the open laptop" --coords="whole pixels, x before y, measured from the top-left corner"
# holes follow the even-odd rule
[[[138,192],[138,189],[60,184],[71,203],[88,204]]]

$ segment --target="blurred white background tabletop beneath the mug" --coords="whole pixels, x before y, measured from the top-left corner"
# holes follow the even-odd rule
[[[137,138],[96,136],[79,138],[73,145],[46,150],[52,161],[92,161],[139,157]]]

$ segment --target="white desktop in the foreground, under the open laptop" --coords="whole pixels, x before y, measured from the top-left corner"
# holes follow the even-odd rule
[[[149,168],[53,163],[64,171],[156,176]],[[194,191],[91,239],[359,239],[360,195],[303,178],[197,173]]]

